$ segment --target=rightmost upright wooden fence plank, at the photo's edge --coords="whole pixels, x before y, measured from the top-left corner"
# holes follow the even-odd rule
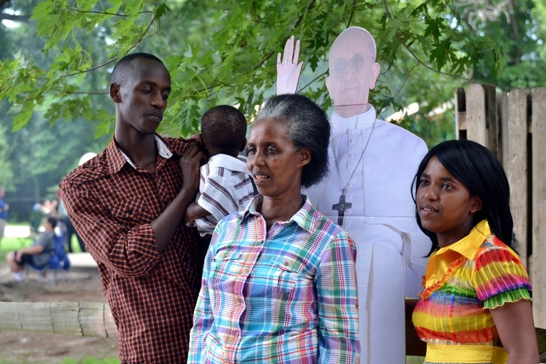
[[[532,312],[546,327],[546,89],[532,90]]]

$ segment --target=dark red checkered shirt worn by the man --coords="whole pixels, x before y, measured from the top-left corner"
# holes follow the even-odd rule
[[[112,139],[60,184],[71,221],[98,263],[122,363],[186,363],[201,288],[204,257],[194,228],[180,223],[165,250],[156,249],[150,223],[181,189],[179,161],[188,146],[161,140],[168,150],[158,143],[155,175],[131,166]]]

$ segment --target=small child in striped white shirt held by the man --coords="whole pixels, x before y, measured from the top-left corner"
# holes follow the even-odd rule
[[[255,193],[246,157],[239,156],[246,146],[246,118],[241,111],[228,105],[211,108],[201,118],[199,138],[209,158],[201,166],[196,202],[186,208],[185,217],[196,224],[206,249],[216,223],[244,210]]]

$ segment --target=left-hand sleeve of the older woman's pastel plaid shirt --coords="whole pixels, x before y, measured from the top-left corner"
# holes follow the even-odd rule
[[[211,245],[216,238],[213,235]],[[206,339],[214,322],[211,300],[208,295],[208,272],[211,271],[212,249],[209,248],[205,264],[203,266],[203,277],[201,278],[201,290],[197,299],[196,308],[193,311],[193,328],[190,332],[190,350],[188,353],[188,364],[206,363]]]

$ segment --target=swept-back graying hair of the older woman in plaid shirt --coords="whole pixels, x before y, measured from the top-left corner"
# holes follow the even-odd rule
[[[295,148],[308,148],[310,163],[303,166],[301,185],[313,186],[328,173],[330,123],[320,106],[310,98],[289,93],[270,98],[258,113],[256,121],[275,119],[289,127],[288,138]]]

